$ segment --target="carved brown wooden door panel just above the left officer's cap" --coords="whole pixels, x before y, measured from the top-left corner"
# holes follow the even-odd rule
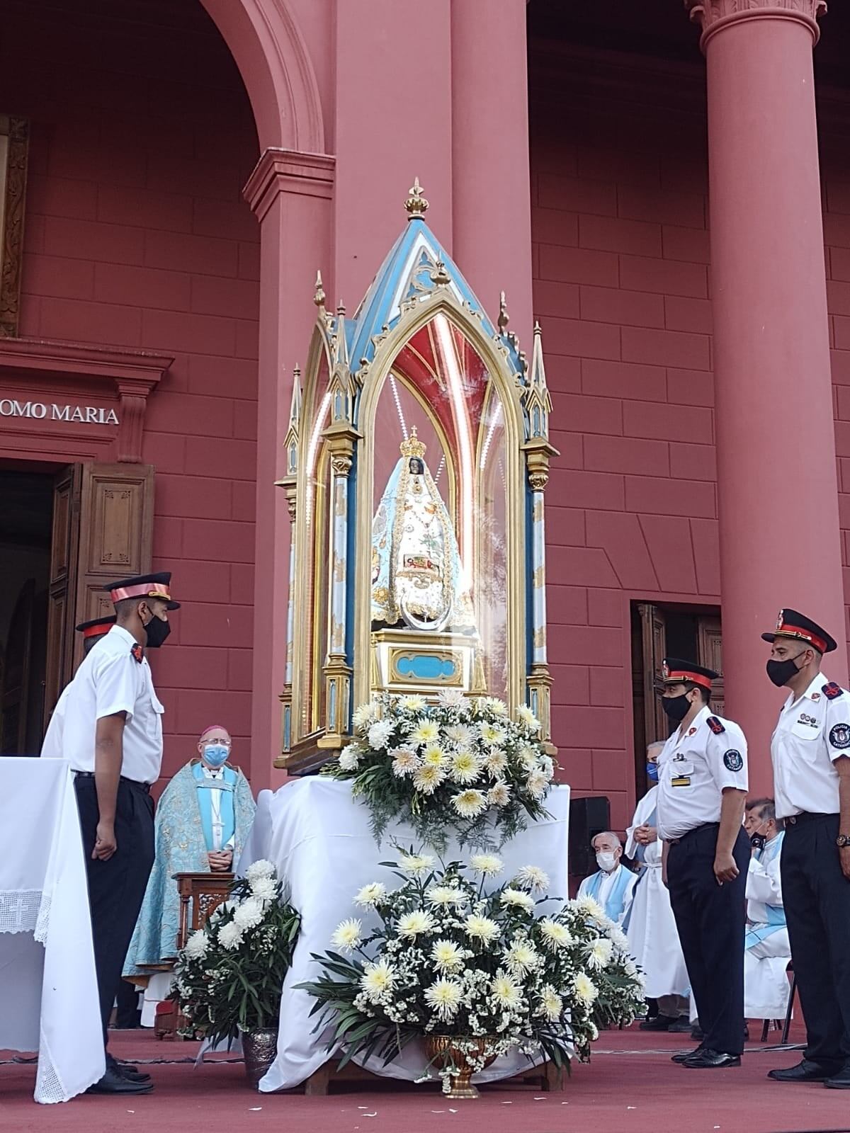
[[[77,622],[112,613],[108,582],[150,571],[153,479],[153,465],[83,465]],[[80,640],[74,655],[79,664]]]

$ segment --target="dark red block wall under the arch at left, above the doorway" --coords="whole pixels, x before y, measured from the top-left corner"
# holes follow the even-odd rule
[[[148,401],[164,773],[222,723],[249,766],[258,232],[247,96],[196,0],[3,6],[0,110],[32,120],[20,333],[176,356]]]

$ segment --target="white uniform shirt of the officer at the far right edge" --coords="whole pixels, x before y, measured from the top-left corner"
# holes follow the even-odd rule
[[[771,740],[776,816],[806,810],[836,815],[840,756],[850,756],[850,695],[818,673],[801,697],[782,706]]]

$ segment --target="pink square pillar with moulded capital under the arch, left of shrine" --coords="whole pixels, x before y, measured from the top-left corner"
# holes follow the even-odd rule
[[[283,492],[283,438],[292,367],[304,365],[316,310],[316,269],[330,264],[333,157],[266,150],[245,186],[261,222],[257,520],[250,769],[254,791],[277,786],[287,650],[290,523]]]

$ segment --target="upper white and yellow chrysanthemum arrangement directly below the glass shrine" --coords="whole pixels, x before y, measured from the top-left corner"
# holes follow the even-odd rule
[[[496,846],[546,817],[554,776],[539,723],[520,705],[511,719],[494,697],[442,690],[382,696],[354,714],[355,738],[324,774],[351,780],[369,808],[375,837],[393,820],[408,821],[423,842],[444,850]]]

